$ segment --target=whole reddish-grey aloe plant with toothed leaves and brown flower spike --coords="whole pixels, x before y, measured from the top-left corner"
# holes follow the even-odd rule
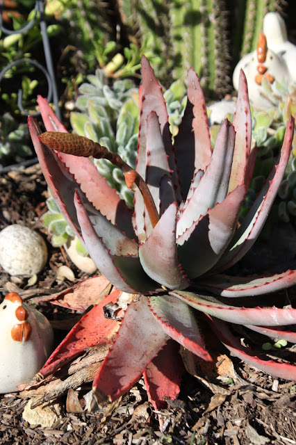
[[[296,323],[296,309],[282,307],[283,302],[258,307],[257,298],[293,286],[296,270],[265,277],[224,273],[252,247],[265,223],[290,155],[293,118],[279,159],[238,227],[256,156],[243,72],[233,124],[224,121],[212,150],[202,89],[195,71],[189,70],[188,102],[173,147],[161,87],[142,57],[135,170],[106,147],[67,134],[45,99],[39,98],[39,105],[47,132],[41,133],[33,118],[28,125],[51,195],[97,268],[115,286],[69,332],[42,375],[54,373],[81,352],[82,338],[88,346],[112,343],[94,378],[97,400],[114,401],[143,374],[151,401],[162,407],[166,397],[179,393],[180,344],[211,361],[199,325],[203,317],[234,355],[272,375],[296,379],[296,366],[256,356],[227,326],[237,323],[295,341],[293,329],[284,327]],[[88,156],[109,159],[122,169],[126,185],[135,191],[134,213]],[[88,286],[92,282],[95,292],[96,277]],[[104,309],[124,293],[129,304],[121,322],[107,319]],[[240,297],[248,298],[248,307],[240,305]],[[97,330],[88,332],[94,313]]]

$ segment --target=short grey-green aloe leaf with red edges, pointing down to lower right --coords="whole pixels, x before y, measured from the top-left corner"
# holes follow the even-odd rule
[[[195,355],[211,362],[192,309],[170,295],[149,297],[149,307],[163,330]]]

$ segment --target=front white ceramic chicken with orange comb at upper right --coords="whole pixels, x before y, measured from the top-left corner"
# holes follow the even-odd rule
[[[285,60],[283,60],[281,54],[276,54],[268,48],[268,42],[264,33],[259,35],[256,51],[247,54],[236,65],[236,69],[233,72],[233,86],[236,90],[238,90],[238,78],[241,68],[247,78],[250,103],[258,110],[272,106],[268,98],[265,98],[263,95],[262,81],[264,77],[271,84],[275,80],[282,81],[283,79],[290,82],[290,74]]]

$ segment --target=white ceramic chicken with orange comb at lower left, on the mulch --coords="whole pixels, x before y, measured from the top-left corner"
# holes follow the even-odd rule
[[[47,318],[10,292],[0,305],[0,394],[17,391],[42,368],[53,346]]]

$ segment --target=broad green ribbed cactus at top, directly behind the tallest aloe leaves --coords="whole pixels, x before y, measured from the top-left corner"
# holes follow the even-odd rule
[[[227,8],[224,0],[123,0],[118,2],[122,22],[132,38],[153,35],[151,50],[163,81],[167,72],[179,79],[194,67],[208,91],[225,92],[230,86]],[[138,32],[135,33],[135,30]],[[155,63],[155,62],[154,62]]]

